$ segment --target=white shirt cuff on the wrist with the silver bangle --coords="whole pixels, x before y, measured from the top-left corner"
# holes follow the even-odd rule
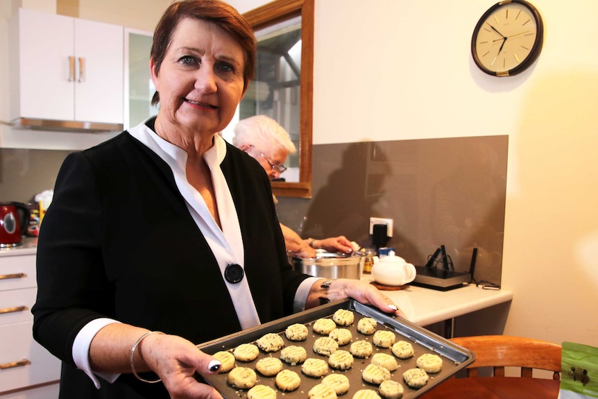
[[[79,331],[73,343],[73,359],[75,364],[79,370],[85,371],[85,374],[92,379],[96,389],[100,389],[100,382],[96,375],[110,382],[110,384],[116,381],[120,375],[120,373],[94,373],[92,367],[89,366],[89,346],[92,345],[92,339],[94,339],[99,330],[113,323],[120,323],[120,321],[105,318],[92,320]]]

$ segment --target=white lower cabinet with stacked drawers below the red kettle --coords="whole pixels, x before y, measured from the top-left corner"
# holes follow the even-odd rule
[[[0,252],[0,399],[50,398],[60,379],[60,360],[33,339],[35,253],[26,251]]]

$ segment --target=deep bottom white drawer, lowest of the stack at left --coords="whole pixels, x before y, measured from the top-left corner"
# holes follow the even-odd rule
[[[33,340],[32,328],[33,321],[0,325],[0,393],[60,379],[60,360]]]

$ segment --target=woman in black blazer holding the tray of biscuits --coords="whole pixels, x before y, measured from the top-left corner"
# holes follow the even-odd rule
[[[220,398],[194,377],[220,363],[194,343],[326,296],[287,262],[263,169],[217,134],[254,63],[236,10],[173,3],[151,50],[157,117],[62,165],[32,309],[35,339],[62,359],[60,398]],[[357,280],[334,281],[327,297],[348,294],[402,314]]]

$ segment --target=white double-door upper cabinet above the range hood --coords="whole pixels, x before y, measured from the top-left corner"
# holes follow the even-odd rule
[[[19,8],[11,118],[123,123],[123,27]]]

